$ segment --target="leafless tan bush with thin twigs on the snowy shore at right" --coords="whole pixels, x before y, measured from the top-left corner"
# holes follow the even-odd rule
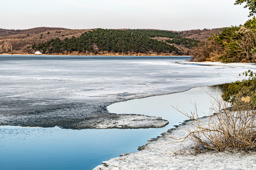
[[[219,152],[256,149],[256,110],[249,102],[240,102],[229,108],[227,102],[215,99],[212,114],[209,114],[206,122],[198,117],[196,107],[191,114],[178,107],[174,108],[191,119],[188,123],[192,125],[192,128],[186,129],[187,136],[170,136],[175,139],[175,144],[181,146],[186,139],[191,139],[198,152],[201,152],[202,147]]]

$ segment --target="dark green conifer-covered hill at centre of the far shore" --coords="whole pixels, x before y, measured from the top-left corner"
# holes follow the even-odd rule
[[[181,54],[174,45],[149,38],[147,35],[134,34],[129,31],[114,29],[95,29],[88,31],[78,38],[59,38],[34,45],[33,49],[44,53],[165,53]]]

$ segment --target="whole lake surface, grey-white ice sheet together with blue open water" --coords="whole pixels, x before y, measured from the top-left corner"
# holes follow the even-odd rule
[[[99,128],[102,121],[96,119],[118,118],[115,114],[109,116],[106,106],[195,86],[229,83],[243,78],[238,74],[247,69],[256,71],[253,65],[178,63],[185,59],[188,58],[0,56],[0,123],[36,126],[0,126],[1,167],[6,170],[90,170],[120,153],[135,152],[138,146],[146,144],[147,139],[159,136],[182,121],[183,118],[170,116],[169,110],[163,111],[176,102],[185,107],[189,105],[185,102],[190,101],[200,105],[201,99],[202,110],[207,111],[210,106],[204,102],[209,96],[204,91],[216,93],[216,88],[194,88],[170,94],[175,97],[169,98],[153,96],[152,101],[143,98],[140,99],[140,107],[136,100],[126,102],[121,109],[115,104],[108,107],[113,113],[163,117],[170,122],[166,127],[70,129],[81,126]],[[164,103],[165,106],[162,105]],[[153,104],[156,104],[155,109],[151,108]],[[133,110],[131,106],[135,106]],[[93,120],[93,127],[85,126],[91,123],[89,120]]]

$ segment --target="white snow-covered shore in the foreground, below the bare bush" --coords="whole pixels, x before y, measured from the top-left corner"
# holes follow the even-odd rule
[[[207,121],[208,118],[204,118]],[[186,140],[179,150],[178,144],[169,144],[172,137],[184,137],[189,123],[164,133],[156,140],[150,140],[143,150],[103,161],[93,170],[255,170],[255,152],[194,151],[194,142]]]

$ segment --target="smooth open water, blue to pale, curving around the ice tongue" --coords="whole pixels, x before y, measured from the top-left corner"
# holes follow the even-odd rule
[[[192,104],[184,102],[185,96],[187,97],[185,100],[197,101],[198,113],[203,116],[203,111],[207,112],[211,106],[209,101],[211,97],[205,91],[216,94],[217,89],[199,87],[183,93],[136,99],[108,107],[111,112],[162,116],[170,121],[168,126],[162,128],[72,130],[59,127],[0,126],[1,168],[3,170],[91,170],[102,161],[117,157],[120,153],[136,152],[138,146],[146,144],[147,139],[159,136],[160,133],[185,120],[186,117],[171,107],[179,103],[178,105],[183,109],[193,110]],[[173,100],[168,102],[167,98],[173,98],[175,102]],[[156,100],[158,102],[152,104]],[[123,109],[118,106],[120,104]]]

